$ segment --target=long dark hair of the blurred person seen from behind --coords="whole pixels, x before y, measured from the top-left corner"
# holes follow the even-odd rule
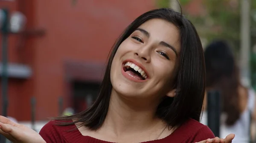
[[[206,87],[218,90],[222,99],[222,112],[227,114],[225,123],[232,126],[239,119],[239,69],[230,45],[216,40],[204,52],[206,64]]]

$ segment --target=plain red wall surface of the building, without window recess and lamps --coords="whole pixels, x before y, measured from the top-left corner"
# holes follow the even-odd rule
[[[10,96],[19,97],[18,101],[10,100],[9,114],[18,120],[30,120],[32,96],[37,99],[37,120],[57,116],[58,97],[67,94],[65,62],[104,63],[125,27],[140,14],[155,8],[155,0],[77,0],[75,5],[72,0],[17,1],[10,7],[28,16],[28,29],[46,29],[43,37],[26,37],[24,50],[19,55],[16,50],[16,55],[10,56],[13,61],[20,57],[22,63],[33,69],[31,79],[10,83],[13,85],[9,90],[14,92]]]

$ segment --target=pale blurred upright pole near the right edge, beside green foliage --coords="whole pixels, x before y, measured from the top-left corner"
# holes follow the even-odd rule
[[[241,0],[241,82],[250,86],[250,0]]]

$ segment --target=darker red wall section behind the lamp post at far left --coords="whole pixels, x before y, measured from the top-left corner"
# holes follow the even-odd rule
[[[23,12],[27,18],[26,30],[34,28],[34,0],[0,1],[0,8],[8,8],[10,14],[14,11]],[[25,33],[9,34],[8,60],[10,63],[26,64],[33,69],[35,55],[33,43],[35,37],[31,35],[25,36]],[[2,52],[2,50],[0,51]],[[15,117],[18,120],[30,119],[30,98],[34,95],[34,81],[35,75],[27,80],[9,79],[9,116]],[[2,101],[0,102],[2,103]],[[2,109],[2,106],[0,109]]]

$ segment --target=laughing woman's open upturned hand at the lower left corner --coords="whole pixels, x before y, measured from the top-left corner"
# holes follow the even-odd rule
[[[13,143],[46,143],[34,130],[0,116],[0,134]]]

